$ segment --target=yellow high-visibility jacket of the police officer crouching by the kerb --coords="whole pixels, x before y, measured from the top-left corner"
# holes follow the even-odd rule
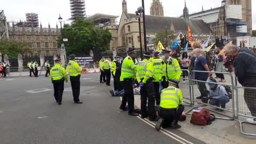
[[[179,105],[183,104],[182,92],[180,89],[169,86],[162,90],[161,93],[161,108],[178,108]]]

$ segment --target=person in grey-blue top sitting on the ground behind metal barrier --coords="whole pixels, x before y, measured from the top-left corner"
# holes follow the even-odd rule
[[[214,78],[210,78],[208,82],[211,82],[209,83],[209,87],[210,87],[209,104],[225,109],[226,103],[229,102],[228,94],[225,90],[225,87],[222,85],[213,84],[213,83],[217,83],[217,81]],[[218,109],[218,110],[224,111],[223,109]]]

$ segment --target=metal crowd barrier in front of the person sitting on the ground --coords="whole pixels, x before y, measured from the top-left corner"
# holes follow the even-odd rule
[[[197,102],[197,103],[203,103],[203,105],[206,105],[206,106],[209,106],[209,107],[205,107],[207,110],[209,111],[212,111],[214,113],[217,113],[221,116],[225,116],[225,117],[216,117],[216,118],[219,118],[219,119],[225,119],[225,120],[234,120],[235,119],[235,93],[234,93],[234,80],[233,80],[233,76],[230,74],[230,73],[219,73],[219,72],[214,72],[214,71],[196,71],[196,70],[193,70],[191,71],[191,73],[210,73],[210,74],[224,74],[224,75],[228,75],[231,79],[231,85],[228,85],[228,84],[220,84],[220,83],[210,83],[208,82],[208,79],[207,81],[198,81],[196,79],[190,79],[190,81],[193,83],[193,82],[196,82],[197,83],[197,86],[196,85],[193,85],[191,84],[191,93],[192,93],[192,99],[193,99],[193,104],[194,102]],[[210,102],[210,97],[209,97],[209,85],[208,84],[218,84],[218,85],[222,85],[222,86],[229,86],[231,88],[231,91],[232,91],[232,98],[229,100],[228,103],[226,102],[223,102],[222,100],[215,100],[215,101],[211,101],[211,104],[209,103]],[[200,88],[201,87],[201,88]],[[201,92],[203,95],[205,95],[205,99],[196,99],[196,97],[199,97],[201,96]],[[206,96],[207,95],[207,96]],[[203,100],[203,101],[202,101]],[[223,103],[226,103],[225,104],[225,108],[221,108],[221,104],[224,105]],[[186,113],[188,115],[191,115],[191,113],[189,113],[190,111],[192,111],[193,109],[195,108],[198,108],[199,106],[196,106],[196,107],[193,107],[191,109],[189,109],[188,111],[186,111]],[[213,109],[213,108],[216,108],[216,109]],[[220,110],[223,110],[223,112],[219,112]],[[225,112],[224,112],[225,111]]]

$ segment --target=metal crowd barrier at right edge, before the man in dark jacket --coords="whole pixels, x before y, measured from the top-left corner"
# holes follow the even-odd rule
[[[252,134],[244,132],[243,127],[244,123],[250,124],[245,121],[245,118],[256,118],[256,88],[238,86],[237,81],[235,81],[235,84],[237,101],[236,115],[239,122],[240,132],[244,135],[256,137],[256,133]]]

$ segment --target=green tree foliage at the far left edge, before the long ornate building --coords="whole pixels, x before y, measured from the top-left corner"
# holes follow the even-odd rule
[[[9,41],[0,42],[0,51],[2,55],[7,54],[9,58],[17,58],[18,54],[31,53],[27,43],[16,43]]]

